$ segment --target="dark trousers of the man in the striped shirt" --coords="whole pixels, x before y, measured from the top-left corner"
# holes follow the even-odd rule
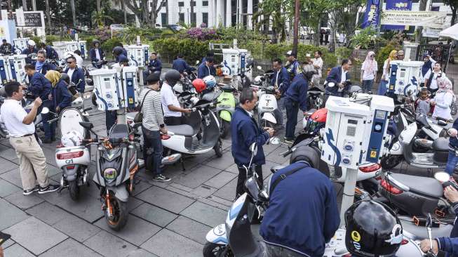
[[[143,156],[147,170],[153,171],[154,175],[161,174],[162,141],[159,131],[150,131],[142,126],[143,131]]]

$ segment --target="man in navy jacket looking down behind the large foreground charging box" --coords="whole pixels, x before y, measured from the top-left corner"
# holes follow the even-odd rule
[[[333,67],[326,78],[326,91],[334,96],[344,96],[344,91],[348,91],[351,85],[349,70],[352,66],[351,60],[344,59],[341,66]]]

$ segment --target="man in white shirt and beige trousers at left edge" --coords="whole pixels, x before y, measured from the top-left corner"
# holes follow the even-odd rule
[[[0,107],[1,120],[10,135],[10,144],[19,159],[20,178],[24,195],[35,191],[39,194],[54,192],[59,185],[51,185],[46,171],[46,157],[35,138],[34,119],[40,107],[41,98],[36,98],[29,114],[22,109],[20,101],[23,98],[22,86],[16,81],[5,84],[8,99]],[[36,181],[39,185],[36,185]]]

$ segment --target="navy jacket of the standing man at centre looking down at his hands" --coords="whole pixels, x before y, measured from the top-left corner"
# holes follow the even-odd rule
[[[265,164],[264,145],[269,140],[269,133],[260,128],[255,119],[248,115],[242,107],[236,107],[231,120],[232,157],[237,165],[249,164],[251,158],[250,145],[257,143],[257,154],[253,157],[253,164]]]

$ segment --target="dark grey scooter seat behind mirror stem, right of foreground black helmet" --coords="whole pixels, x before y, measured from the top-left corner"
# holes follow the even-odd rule
[[[417,226],[414,223],[407,221],[412,220],[410,217],[400,217],[400,224],[403,226],[403,234],[413,240],[422,240],[428,237],[426,227]],[[439,228],[432,228],[433,237],[450,237],[453,225],[440,225]],[[413,237],[413,238],[412,238]]]

